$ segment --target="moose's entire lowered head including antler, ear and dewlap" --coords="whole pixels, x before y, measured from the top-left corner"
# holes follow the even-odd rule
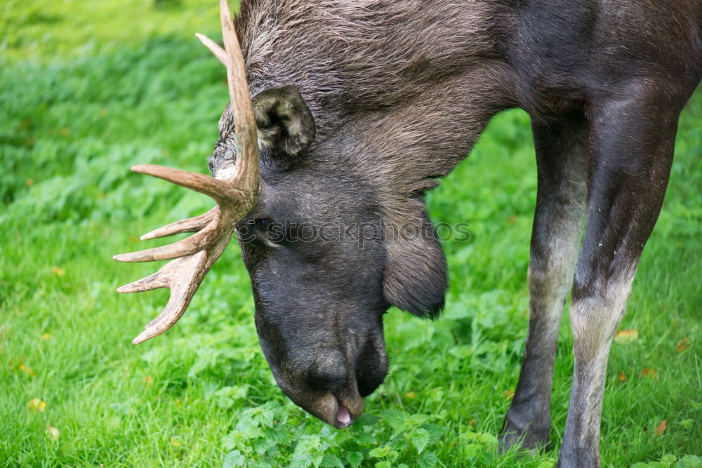
[[[123,262],[175,259],[120,293],[169,288],[168,305],[139,344],[164,333],[187,305],[234,232],[249,270],[256,329],[279,387],[312,415],[343,428],[383,382],[388,359],[383,314],[395,305],[435,316],[444,304],[446,261],[422,190],[388,210],[352,163],[333,158],[346,140],[315,140],[315,122],[292,85],[251,98],[226,0],[225,49],[198,38],[227,67],[230,105],[209,159],[214,178],[162,166],[153,175],[211,196],[217,206],[142,239],[197,232],[169,246],[115,256]],[[423,182],[428,189],[433,180]]]

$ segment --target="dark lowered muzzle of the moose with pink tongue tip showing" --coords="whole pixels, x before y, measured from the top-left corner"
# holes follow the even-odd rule
[[[327,424],[350,426],[388,374],[382,312],[282,311],[258,299],[256,330],[280,389]]]

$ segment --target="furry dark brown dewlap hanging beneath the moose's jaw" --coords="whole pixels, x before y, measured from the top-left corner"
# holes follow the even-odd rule
[[[413,218],[385,227],[383,294],[395,307],[433,319],[444,307],[446,257],[424,208]]]

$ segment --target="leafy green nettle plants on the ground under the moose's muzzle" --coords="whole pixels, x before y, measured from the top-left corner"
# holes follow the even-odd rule
[[[285,424],[289,415],[290,408],[275,402],[242,411],[225,438],[229,453],[224,466],[246,466],[255,457],[270,460],[257,461],[258,467],[433,467],[439,463],[435,450],[446,434],[429,415],[383,410],[362,415],[346,431],[324,427],[319,434],[293,436]],[[468,431],[461,440],[464,456],[496,452],[497,439],[491,434]]]

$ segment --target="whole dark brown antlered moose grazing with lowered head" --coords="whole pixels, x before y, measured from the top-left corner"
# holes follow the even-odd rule
[[[134,344],[176,323],[239,233],[279,387],[334,427],[352,424],[388,371],[383,314],[444,307],[446,260],[424,235],[425,193],[491,116],[520,107],[538,189],[529,329],[501,443],[548,447],[570,292],[575,367],[558,466],[599,467],[609,349],[661,210],[681,109],[702,77],[702,3],[242,0],[235,21],[220,6],[225,48],[198,35],[227,68],[230,92],[213,177],[133,168],[216,207],[143,236],[197,232],[187,239],[115,257],[172,259],[118,289],[171,289]],[[378,235],[300,241],[303,224]]]

